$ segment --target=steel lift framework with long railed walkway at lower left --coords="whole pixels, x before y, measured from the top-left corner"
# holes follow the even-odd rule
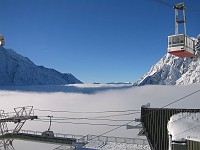
[[[87,144],[90,142],[98,142],[99,147],[102,148],[109,142],[124,143],[124,144],[136,144],[136,145],[148,145],[146,139],[139,138],[125,138],[125,137],[108,137],[102,135],[71,135],[71,134],[44,134],[45,132],[22,130],[23,125],[27,120],[34,120],[38,117],[34,115],[33,106],[14,108],[14,114],[5,113],[4,110],[0,110],[0,150],[14,150],[13,140],[28,140],[34,142],[44,142],[61,145],[55,150],[81,150],[90,149],[87,148]],[[51,127],[51,119],[48,132]],[[12,130],[8,130],[7,123],[15,123],[16,126]],[[132,126],[131,126],[132,128]]]

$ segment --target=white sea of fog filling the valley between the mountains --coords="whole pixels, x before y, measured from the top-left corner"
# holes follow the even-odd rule
[[[63,120],[57,120],[57,122],[62,123],[52,123],[51,130],[56,133],[101,135],[116,128],[115,125],[123,125],[129,122],[129,120],[134,120],[140,116],[139,113],[130,110],[140,110],[141,105],[147,103],[150,103],[151,107],[163,107],[197,90],[200,90],[200,84],[177,86],[148,85],[140,87],[127,84],[0,87],[0,106],[5,112],[13,112],[15,107],[33,106],[35,115],[38,115],[40,119],[48,119],[46,117],[48,115],[52,115],[54,119],[62,117]],[[200,92],[197,92],[169,107],[199,108],[199,96]],[[42,110],[54,110],[54,112]],[[100,120],[84,120],[80,118],[98,118]],[[136,124],[138,123],[133,122],[130,125]],[[13,127],[13,124],[8,123],[8,126],[10,129]],[[43,122],[40,120],[27,121],[22,129],[45,131],[48,127],[48,121]],[[138,130],[127,130],[125,127],[121,127],[105,135],[134,138],[137,137],[137,133]],[[123,148],[121,147],[123,144],[112,144],[106,145],[104,149],[130,149],[125,144]],[[13,145],[16,150],[52,150],[59,146],[18,140],[14,140]],[[135,147],[132,149],[140,148]]]

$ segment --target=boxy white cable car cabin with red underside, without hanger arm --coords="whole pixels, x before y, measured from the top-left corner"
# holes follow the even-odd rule
[[[194,40],[184,34],[168,36],[168,53],[181,58],[194,57]]]

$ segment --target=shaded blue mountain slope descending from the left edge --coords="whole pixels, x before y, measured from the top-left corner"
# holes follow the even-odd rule
[[[70,73],[35,65],[30,59],[0,46],[0,86],[82,83]]]

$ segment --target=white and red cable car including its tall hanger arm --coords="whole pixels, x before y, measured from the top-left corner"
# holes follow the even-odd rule
[[[195,42],[193,39],[186,35],[186,7],[184,3],[179,3],[174,6],[175,9],[175,35],[168,36],[168,53],[184,58],[184,57],[195,57],[194,46]],[[179,20],[179,11],[182,11],[183,19]],[[184,34],[178,33],[178,25],[184,24]]]

